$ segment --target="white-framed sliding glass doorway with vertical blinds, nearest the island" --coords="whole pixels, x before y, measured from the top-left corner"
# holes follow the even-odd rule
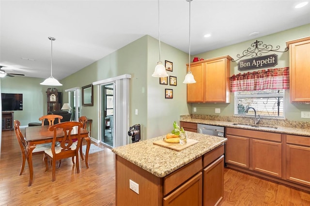
[[[123,74],[93,82],[93,85],[98,85],[97,140],[107,147],[129,144],[127,132],[129,128],[130,78],[130,74]]]

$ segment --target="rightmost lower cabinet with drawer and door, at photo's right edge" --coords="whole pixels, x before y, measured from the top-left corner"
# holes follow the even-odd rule
[[[287,135],[286,179],[310,186],[310,137]]]

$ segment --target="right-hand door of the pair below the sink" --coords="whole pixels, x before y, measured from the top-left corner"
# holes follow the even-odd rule
[[[252,140],[253,170],[282,177],[282,144],[263,140]]]

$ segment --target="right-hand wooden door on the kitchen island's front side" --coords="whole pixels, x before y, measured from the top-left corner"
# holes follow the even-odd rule
[[[203,170],[203,206],[217,205],[224,195],[224,155]]]

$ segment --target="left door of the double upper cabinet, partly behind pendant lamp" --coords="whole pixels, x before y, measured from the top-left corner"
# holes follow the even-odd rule
[[[203,102],[203,87],[204,87],[204,68],[203,64],[190,66],[190,71],[194,75],[196,83],[187,84],[187,102],[202,103]]]

